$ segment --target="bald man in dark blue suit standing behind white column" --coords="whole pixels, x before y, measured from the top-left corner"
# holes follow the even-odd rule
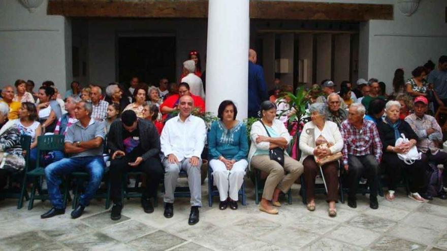
[[[259,118],[259,106],[268,99],[264,70],[257,61],[256,51],[248,50],[248,117],[254,118]]]

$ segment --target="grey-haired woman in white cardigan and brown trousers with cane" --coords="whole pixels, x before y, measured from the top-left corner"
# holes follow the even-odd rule
[[[309,107],[311,121],[306,123],[300,136],[300,162],[304,166],[304,181],[306,186],[307,209],[315,210],[314,185],[319,167],[315,157],[323,158],[338,153],[343,149],[343,138],[337,124],[326,120],[327,107],[324,103],[313,103]],[[317,148],[317,145],[327,144],[327,148]],[[322,166],[323,175],[328,188],[329,216],[335,217],[337,211],[335,202],[338,200],[338,160]]]

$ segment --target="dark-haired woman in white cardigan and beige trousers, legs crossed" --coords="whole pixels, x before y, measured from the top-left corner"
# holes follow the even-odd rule
[[[291,136],[284,123],[275,119],[276,105],[274,103],[270,101],[261,103],[261,113],[261,120],[254,122],[251,126],[248,160],[251,167],[268,173],[259,209],[277,214],[278,210],[272,205],[281,206],[278,202],[279,193],[289,191],[292,184],[303,173],[303,165],[289,157],[285,151],[284,166],[270,159],[269,150],[277,147],[285,149],[290,143]]]

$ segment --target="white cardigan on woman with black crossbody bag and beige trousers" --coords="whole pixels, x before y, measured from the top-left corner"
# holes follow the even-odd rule
[[[285,140],[287,140],[287,144],[290,143],[292,137],[290,136],[289,131],[285,128],[284,123],[282,123],[278,119],[275,119],[273,120],[272,128],[279,134],[280,137],[283,137],[285,138]],[[248,163],[250,163],[251,157],[253,157],[257,149],[260,150],[270,149],[269,142],[260,142],[259,144],[256,143],[256,138],[258,137],[258,135],[268,137],[267,131],[260,121],[256,121],[251,125],[251,131],[250,131],[251,146],[250,151],[248,152]],[[284,151],[284,154],[287,154],[287,152]],[[248,168],[250,169],[250,164],[248,164]]]

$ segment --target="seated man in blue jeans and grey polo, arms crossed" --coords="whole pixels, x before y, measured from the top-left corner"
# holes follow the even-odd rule
[[[76,104],[75,116],[79,121],[71,125],[65,135],[65,153],[70,158],[63,158],[45,168],[48,194],[53,208],[42,214],[42,219],[65,213],[63,196],[59,190],[62,175],[82,171],[87,172],[90,177],[78,207],[71,213],[73,219],[82,215],[85,206],[88,206],[101,184],[106,167],[103,159],[105,130],[104,123],[90,118],[91,111],[89,102],[81,101]]]

